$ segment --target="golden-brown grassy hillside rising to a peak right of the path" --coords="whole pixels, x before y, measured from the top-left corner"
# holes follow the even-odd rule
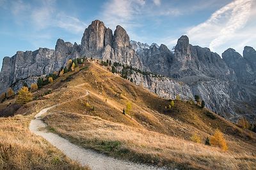
[[[175,100],[172,109],[166,109],[170,101],[109,72],[94,59],[33,95],[40,97],[16,114],[58,104],[44,116],[49,130],[111,157],[179,169],[256,166],[255,133],[189,102]],[[123,114],[129,102],[131,112]],[[204,144],[216,128],[224,134],[227,151]],[[191,141],[195,134],[200,143]]]

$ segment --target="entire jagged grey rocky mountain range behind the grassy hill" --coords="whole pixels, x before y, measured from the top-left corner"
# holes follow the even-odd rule
[[[236,120],[240,114],[246,114],[253,120],[253,115],[256,115],[256,52],[252,47],[244,47],[243,56],[228,49],[222,59],[208,48],[189,44],[188,36],[179,38],[174,51],[163,44],[149,46],[130,41],[121,26],[116,26],[113,33],[103,22],[95,20],[85,29],[81,45],[59,39],[54,50],[40,48],[4,58],[0,92],[10,86],[17,90],[23,82],[31,84],[39,76],[58,71],[68,59],[108,59],[163,75],[155,77],[138,72],[129,75],[136,84],[160,97],[180,95],[188,100],[200,95],[209,109],[230,120]]]

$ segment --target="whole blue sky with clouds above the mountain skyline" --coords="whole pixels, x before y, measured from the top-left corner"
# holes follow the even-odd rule
[[[96,19],[113,31],[124,27],[131,40],[169,49],[182,35],[220,55],[256,48],[256,0],[0,0],[0,68],[18,50],[54,49],[58,38],[80,44]]]

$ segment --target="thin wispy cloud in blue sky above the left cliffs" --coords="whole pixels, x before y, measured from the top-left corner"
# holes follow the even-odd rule
[[[3,0],[0,0],[3,1]],[[38,4],[31,6],[22,0],[13,0],[10,3],[13,19],[19,24],[29,24],[34,31],[42,29],[60,27],[70,33],[83,33],[86,24],[77,17],[67,15],[58,11],[55,0],[42,0]]]

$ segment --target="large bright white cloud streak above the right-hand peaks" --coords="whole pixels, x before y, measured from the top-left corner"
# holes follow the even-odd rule
[[[241,42],[255,34],[250,29],[256,17],[253,6],[255,8],[255,0],[236,0],[223,6],[205,22],[190,28],[187,32],[189,40],[218,53],[227,49],[227,45],[237,47],[241,52]],[[251,25],[248,25],[249,20]]]

